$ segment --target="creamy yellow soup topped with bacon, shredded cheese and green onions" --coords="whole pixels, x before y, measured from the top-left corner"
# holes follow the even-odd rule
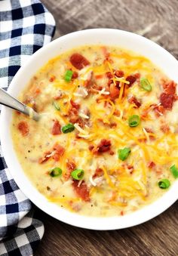
[[[131,51],[82,46],[46,63],[14,113],[23,170],[52,202],[90,216],[124,215],[178,177],[176,83]]]

